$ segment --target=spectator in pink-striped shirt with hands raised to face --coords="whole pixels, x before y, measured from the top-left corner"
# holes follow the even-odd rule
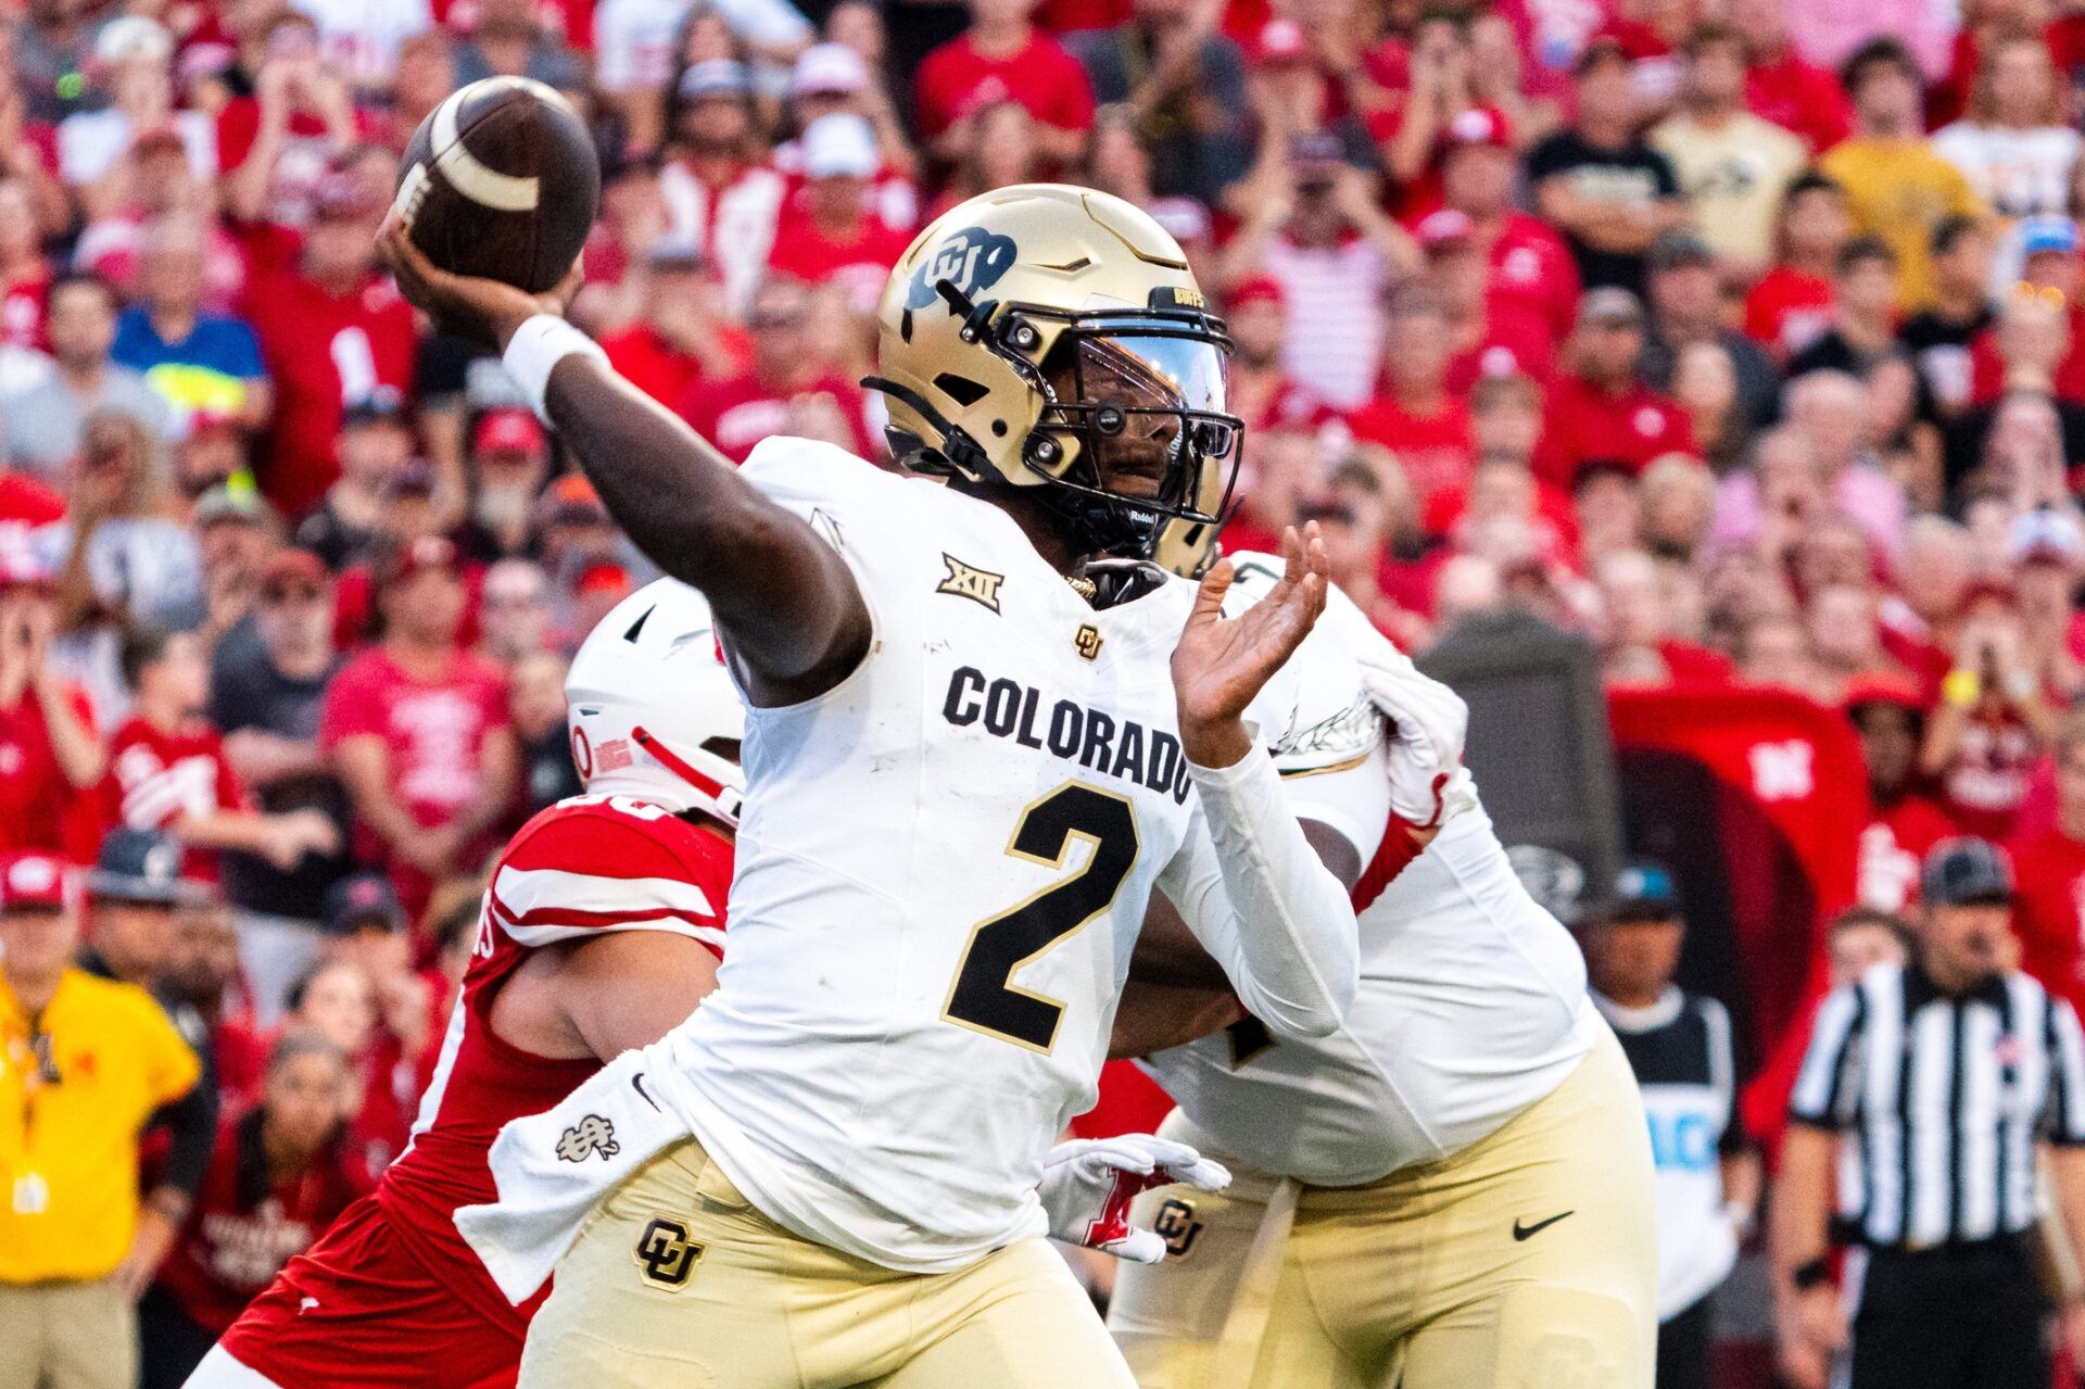
[[[1282,286],[1291,334],[1289,373],[1341,409],[1362,405],[1382,361],[1382,294],[1418,252],[1376,200],[1368,175],[1320,131],[1284,148],[1284,181],[1238,227],[1224,252],[1224,284],[1268,275]]]

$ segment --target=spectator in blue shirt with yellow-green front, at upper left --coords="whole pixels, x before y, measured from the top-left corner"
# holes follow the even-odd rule
[[[204,223],[169,215],[144,229],[138,302],[117,319],[108,359],[144,375],[181,430],[215,415],[242,430],[269,417],[261,344],[242,319],[202,313]]]

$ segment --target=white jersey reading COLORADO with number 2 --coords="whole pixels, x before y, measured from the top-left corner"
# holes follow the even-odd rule
[[[828,444],[740,476],[840,551],[874,638],[746,711],[732,949],[663,1089],[769,1218],[961,1268],[1045,1233],[1151,888],[1220,880],[1174,732],[1193,586],[1095,611],[1001,509]]]

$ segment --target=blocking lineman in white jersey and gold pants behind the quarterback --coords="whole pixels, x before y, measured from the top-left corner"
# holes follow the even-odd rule
[[[1234,601],[1276,582],[1236,565]],[[1362,991],[1326,1037],[1247,1016],[1166,1047],[1197,1009],[1193,943],[1147,930],[1138,978],[1170,986],[1147,1007],[1132,980],[1118,1051],[1159,1047],[1159,1132],[1234,1180],[1138,1199],[1174,1258],[1122,1268],[1109,1329],[1143,1389],[1649,1389],[1643,1105],[1457,767],[1466,711],[1339,592],[1291,665],[1318,680],[1274,749],[1291,803],[1372,836]]]

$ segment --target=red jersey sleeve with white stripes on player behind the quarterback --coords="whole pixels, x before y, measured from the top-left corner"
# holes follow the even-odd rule
[[[561,807],[525,828],[492,872],[492,920],[528,947],[611,930],[663,930],[723,955],[728,861],[661,834],[671,818],[640,803]]]

